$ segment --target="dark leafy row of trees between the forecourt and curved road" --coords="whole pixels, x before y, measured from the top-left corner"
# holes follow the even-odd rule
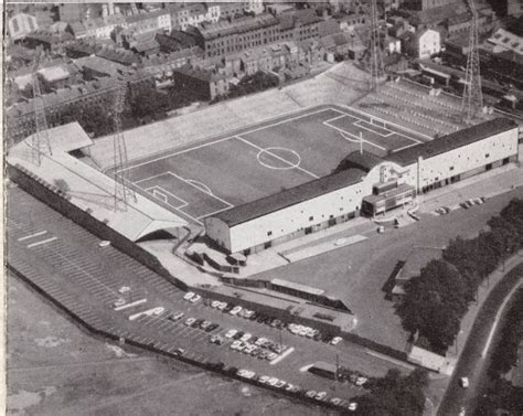
[[[460,322],[479,285],[523,248],[523,200],[514,199],[476,238],[456,238],[405,286],[397,306],[404,328],[419,334],[418,344],[444,354],[460,330]]]

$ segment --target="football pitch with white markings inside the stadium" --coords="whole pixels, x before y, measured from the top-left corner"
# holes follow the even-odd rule
[[[128,179],[198,224],[331,173],[353,151],[386,156],[427,138],[354,109],[322,106],[135,161]]]

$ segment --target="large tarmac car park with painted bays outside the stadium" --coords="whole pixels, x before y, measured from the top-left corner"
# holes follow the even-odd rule
[[[64,301],[72,302],[83,314],[104,324],[108,331],[128,339],[138,338],[143,344],[153,343],[166,349],[183,348],[190,359],[222,361],[227,365],[253,370],[257,374],[276,376],[302,388],[325,391],[331,397],[350,398],[363,392],[352,384],[337,383],[300,369],[316,361],[334,363],[337,355],[340,365],[367,375],[384,375],[389,369],[403,372],[412,369],[408,364],[371,355],[357,344],[342,342],[333,346],[218,312],[202,301],[186,302],[182,299],[183,291],[114,247],[100,248],[98,238],[21,190],[11,190],[8,203],[10,262],[18,263],[24,268],[23,273],[40,279],[46,290],[60,288]],[[121,296],[118,289],[122,286],[131,288],[126,295],[129,296],[128,301],[147,299],[147,302],[115,311],[113,303]],[[130,314],[153,307],[163,307],[166,311],[159,317],[128,320]],[[183,324],[183,320],[172,322],[167,319],[179,311],[185,313],[184,318],[202,318],[218,323],[220,328],[212,334],[223,334],[235,328],[276,342],[281,337],[282,343],[293,348],[293,352],[271,364],[231,350],[231,341],[221,346],[211,344],[207,332],[189,328]]]

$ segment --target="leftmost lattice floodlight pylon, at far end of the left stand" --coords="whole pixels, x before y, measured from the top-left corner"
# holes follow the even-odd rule
[[[35,132],[31,137],[31,162],[40,166],[42,163],[42,154],[52,156],[51,142],[49,139],[47,120],[45,118],[45,108],[40,90],[39,66],[42,47],[36,49],[34,64],[31,72],[31,81],[33,84],[33,106],[34,106],[34,128]]]

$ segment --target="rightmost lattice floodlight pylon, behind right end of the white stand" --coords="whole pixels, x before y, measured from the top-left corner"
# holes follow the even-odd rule
[[[467,3],[472,14],[472,20],[470,22],[469,54],[467,56],[461,110],[466,115],[467,124],[470,124],[472,118],[483,108],[483,93],[481,90],[479,58],[478,12],[473,0],[468,0]]]

